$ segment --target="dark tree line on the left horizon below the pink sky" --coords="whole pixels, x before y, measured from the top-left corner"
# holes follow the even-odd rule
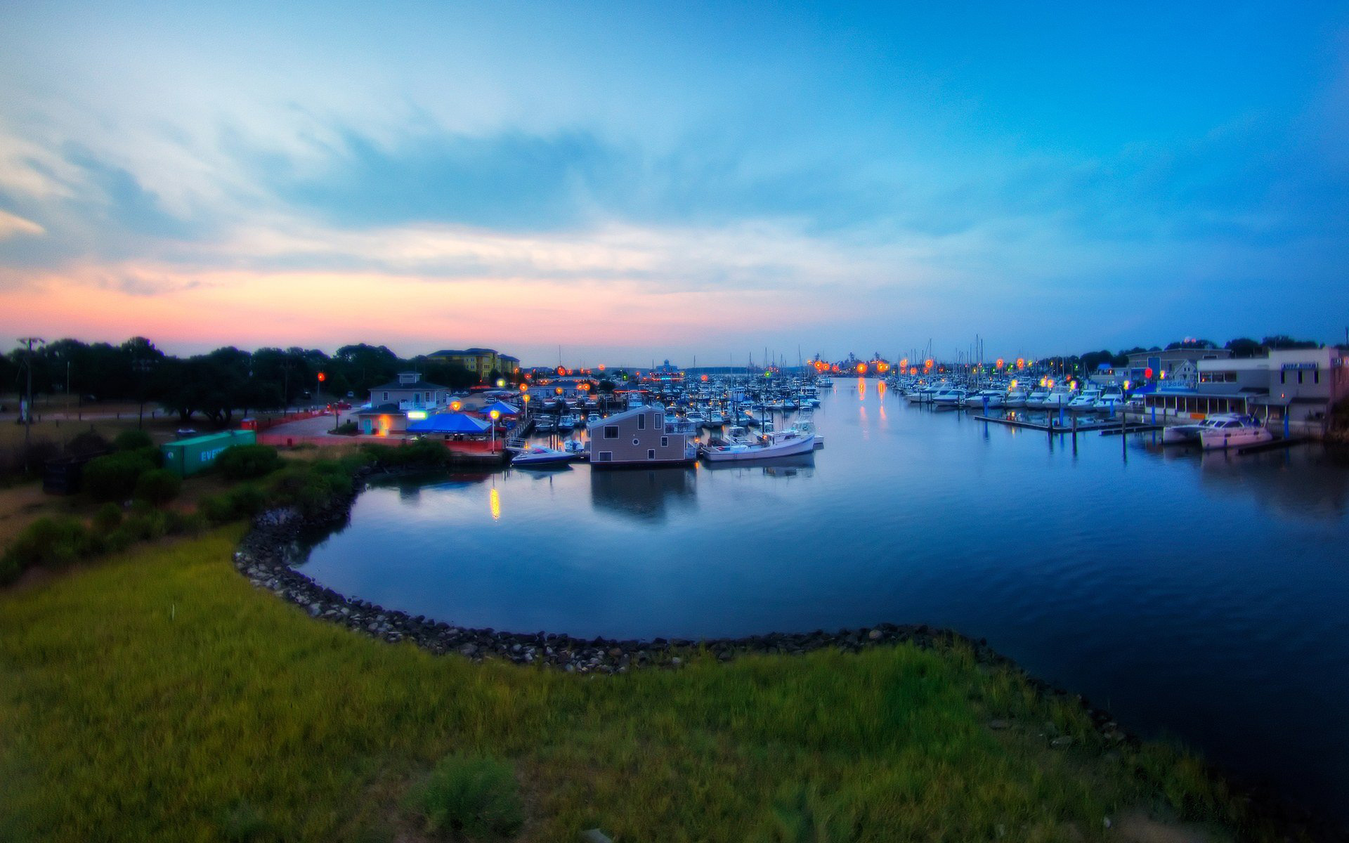
[[[425,380],[453,390],[479,383],[476,372],[459,364],[399,357],[386,345],[357,343],[336,353],[317,348],[259,348],[232,345],[204,355],[165,353],[146,337],[120,345],[63,339],[27,345],[0,356],[0,394],[23,394],[32,375],[34,395],[63,395],[84,401],[155,403],[186,421],[200,414],[229,424],[233,414],[274,410],[331,401],[348,394],[363,403],[372,387],[394,380],[398,372],[417,371]],[[320,384],[318,375],[324,375]],[[500,375],[491,372],[488,382]]]

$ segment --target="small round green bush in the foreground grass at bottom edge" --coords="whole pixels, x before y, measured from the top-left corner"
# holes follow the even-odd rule
[[[440,836],[505,838],[525,824],[515,774],[495,758],[449,754],[410,798]]]

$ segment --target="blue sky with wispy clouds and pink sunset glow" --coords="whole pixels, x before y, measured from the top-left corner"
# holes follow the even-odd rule
[[[1349,4],[0,0],[0,344],[1075,353],[1349,324]]]

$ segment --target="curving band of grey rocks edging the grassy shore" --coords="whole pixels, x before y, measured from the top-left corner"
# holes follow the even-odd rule
[[[413,471],[372,471],[363,469],[357,476],[359,487],[371,475],[395,476],[414,473]],[[1139,746],[1137,736],[1120,728],[1109,712],[1091,705],[1079,693],[1070,693],[1044,680],[1031,676],[1013,660],[994,651],[985,639],[974,639],[959,633],[935,629],[927,624],[880,623],[871,627],[844,629],[835,633],[815,630],[812,633],[768,633],[743,638],[714,639],[665,639],[650,641],[573,638],[554,633],[506,633],[494,629],[459,627],[425,615],[407,615],[398,610],[341,595],[316,583],[291,565],[302,556],[302,540],[322,530],[345,525],[351,518],[351,506],[360,490],[336,500],[326,511],[304,517],[295,510],[268,510],[254,519],[252,529],[243,538],[233,556],[235,568],[256,588],[266,588],[278,598],[301,607],[312,618],[329,620],[370,638],[390,643],[411,642],[437,656],[453,654],[472,661],[499,660],[517,665],[536,665],[544,669],[557,669],[568,673],[615,674],[638,669],[674,670],[687,664],[691,657],[710,654],[720,662],[733,661],[741,656],[785,654],[801,656],[815,650],[835,649],[844,653],[859,653],[867,647],[908,643],[924,650],[950,650],[965,645],[970,649],[983,670],[1005,668],[1024,677],[1041,696],[1075,701],[1091,719],[1095,731],[1108,747]],[[992,730],[1024,727],[1006,720],[994,719],[987,723]],[[1044,738],[1052,749],[1066,749],[1072,738],[1058,735],[1052,724],[1044,724]],[[1039,728],[1039,724],[1032,724]],[[1213,773],[1218,778],[1233,782],[1232,777]],[[1275,819],[1286,828],[1296,828],[1315,840],[1349,840],[1346,832],[1333,824],[1314,817],[1300,807],[1290,804],[1264,786],[1236,785],[1244,800],[1265,817]]]

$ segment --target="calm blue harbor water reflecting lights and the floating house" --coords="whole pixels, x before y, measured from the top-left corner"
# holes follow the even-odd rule
[[[1349,468],[1319,448],[1048,441],[838,383],[785,465],[440,476],[362,495],[305,572],[457,624],[985,637],[1128,728],[1349,819]]]

